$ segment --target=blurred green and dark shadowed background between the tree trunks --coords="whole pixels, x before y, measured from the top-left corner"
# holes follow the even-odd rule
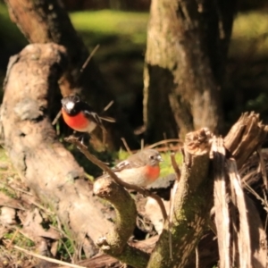
[[[267,2],[267,1],[266,1]],[[142,124],[143,63],[147,42],[148,0],[65,0],[75,29],[94,58],[133,128]],[[27,45],[0,2],[0,80],[8,59]],[[254,110],[268,123],[268,5],[239,4],[230,42],[226,83],[222,90],[225,122]],[[1,91],[2,95],[2,91]]]

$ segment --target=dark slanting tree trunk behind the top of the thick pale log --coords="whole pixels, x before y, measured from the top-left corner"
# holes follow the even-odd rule
[[[82,65],[88,59],[88,47],[71,25],[61,1],[6,0],[5,3],[12,20],[30,43],[54,42],[65,46],[69,63],[66,64],[63,78],[60,80],[62,95],[67,96],[81,91],[97,113],[103,112],[105,105],[113,100],[113,95],[93,59],[89,61],[83,73],[80,72]],[[58,110],[59,105],[58,101],[56,106]],[[113,104],[108,112],[109,116],[116,118],[116,123],[105,124],[109,133],[107,138],[109,147],[119,148],[121,137],[126,138],[130,147],[138,147],[129,123],[125,121],[119,107]]]

